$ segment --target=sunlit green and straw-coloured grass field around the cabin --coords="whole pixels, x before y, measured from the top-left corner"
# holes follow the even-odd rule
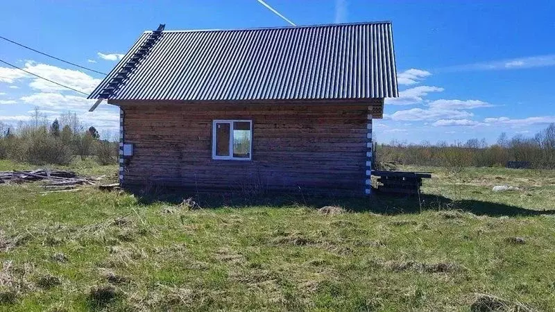
[[[421,206],[0,185],[0,310],[554,309],[554,171],[408,169]]]

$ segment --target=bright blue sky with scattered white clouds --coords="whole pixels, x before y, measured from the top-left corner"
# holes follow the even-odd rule
[[[393,21],[400,98],[375,121],[378,141],[465,141],[533,135],[555,122],[555,1],[284,1],[270,6],[298,25]],[[137,37],[167,29],[286,26],[257,0],[6,1],[0,35],[108,72]],[[85,92],[102,75],[0,40],[0,59]],[[78,113],[105,135],[115,107],[0,64],[0,122]]]

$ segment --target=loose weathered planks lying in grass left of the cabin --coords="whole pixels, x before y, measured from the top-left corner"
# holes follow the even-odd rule
[[[94,185],[101,178],[93,180],[88,177],[79,177],[74,171],[67,170],[37,169],[0,172],[0,184],[42,181],[45,189],[54,191],[74,189],[76,185]]]

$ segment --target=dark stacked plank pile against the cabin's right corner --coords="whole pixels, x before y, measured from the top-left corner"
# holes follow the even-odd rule
[[[432,173],[404,171],[372,171],[378,176],[377,190],[383,193],[418,194],[423,178],[431,178]]]

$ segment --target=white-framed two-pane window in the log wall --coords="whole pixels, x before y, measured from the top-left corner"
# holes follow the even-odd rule
[[[253,121],[212,121],[212,159],[250,160],[253,158]]]

